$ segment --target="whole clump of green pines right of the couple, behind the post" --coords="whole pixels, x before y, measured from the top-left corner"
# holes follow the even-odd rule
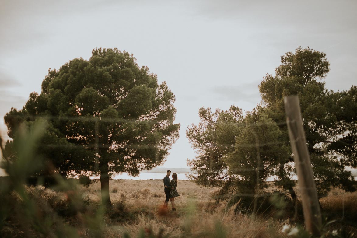
[[[233,196],[250,208],[254,196],[267,194],[265,180],[276,176],[273,184],[283,193],[288,191],[295,204],[296,181],[291,178],[295,164],[283,100],[298,95],[318,195],[326,196],[332,187],[356,191],[345,166],[357,167],[357,87],[327,90],[321,80],[329,69],[326,54],[299,47],[295,54],[281,57],[275,76],[263,78],[259,85],[263,101],[251,112],[243,115],[236,106],[214,113],[200,108],[200,123],[186,131],[197,152],[195,159],[187,160],[197,172],[191,178],[203,186],[220,187],[217,199]]]

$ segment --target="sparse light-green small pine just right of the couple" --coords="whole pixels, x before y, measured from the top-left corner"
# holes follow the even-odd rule
[[[227,111],[217,109],[212,113],[211,108],[202,107],[198,115],[198,125],[192,124],[186,130],[186,137],[197,154],[195,159],[187,159],[188,166],[197,172],[195,175],[191,174],[190,178],[207,187],[223,186],[224,191],[233,177],[227,171],[223,156],[233,151],[236,124],[241,121],[242,111],[231,106]],[[230,127],[229,130],[225,130],[227,127]],[[221,144],[218,144],[218,140]]]

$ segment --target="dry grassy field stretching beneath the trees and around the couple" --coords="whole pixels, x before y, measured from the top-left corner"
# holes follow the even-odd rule
[[[2,182],[9,183],[6,179]],[[175,201],[176,212],[171,212],[170,203],[169,209],[162,207],[165,193],[161,179],[111,180],[113,207],[106,213],[100,206],[99,182],[89,187],[78,185],[76,179],[69,180],[70,183],[74,186],[62,192],[42,186],[26,186],[26,197],[30,199],[27,201],[18,193],[11,193],[10,201],[14,203],[8,201],[8,204],[13,208],[5,226],[0,227],[0,237],[310,237],[301,229],[302,212],[298,211],[295,217],[295,209],[287,203],[257,216],[234,212],[235,206],[227,209],[226,203],[215,202],[212,197],[216,189],[199,187],[188,180],[178,181],[180,196]],[[320,203],[325,224],[325,235],[321,238],[352,238],[351,231],[357,234],[357,192],[334,189],[327,197],[321,198]],[[3,210],[5,208],[2,206]],[[0,215],[1,212],[4,211],[0,211]],[[334,222],[326,224],[331,221]],[[289,232],[282,232],[287,226],[298,228],[295,231],[300,233],[292,236]],[[72,233],[68,232],[69,229]],[[338,235],[333,236],[336,232]]]

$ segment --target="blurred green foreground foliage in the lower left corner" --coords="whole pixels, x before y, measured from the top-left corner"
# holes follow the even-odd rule
[[[99,237],[103,227],[104,208],[89,206],[89,199],[77,189],[76,179],[65,179],[53,174],[56,183],[49,192],[43,177],[37,186],[28,186],[29,179],[38,169],[50,171],[45,158],[34,150],[44,135],[44,121],[19,129],[17,156],[7,156],[2,147],[2,168],[8,174],[0,185],[0,236],[1,237],[81,237],[93,234]],[[62,196],[60,196],[62,195]],[[71,223],[65,218],[72,218]],[[74,228],[73,225],[80,227]]]

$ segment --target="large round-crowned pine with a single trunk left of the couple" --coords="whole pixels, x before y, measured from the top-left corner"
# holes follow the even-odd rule
[[[128,52],[95,49],[89,60],[74,59],[49,70],[42,92],[31,93],[22,110],[5,115],[9,136],[39,118],[47,138],[37,148],[65,176],[100,175],[102,203],[111,204],[109,179],[137,175],[163,163],[178,138],[175,96],[166,83]],[[16,152],[13,152],[16,158]],[[47,166],[48,168],[48,166]],[[44,174],[39,171],[34,176]]]

